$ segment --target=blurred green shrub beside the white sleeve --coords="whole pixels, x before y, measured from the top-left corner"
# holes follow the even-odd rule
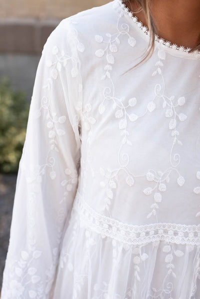
[[[7,77],[0,81],[0,173],[16,173],[28,119],[24,91],[14,91]]]

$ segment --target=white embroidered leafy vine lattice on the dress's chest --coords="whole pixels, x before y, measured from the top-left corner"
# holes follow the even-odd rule
[[[156,108],[156,104],[154,102],[154,100],[156,98],[158,99],[162,99],[163,100],[163,104],[162,107],[163,108],[167,108],[165,111],[165,117],[166,118],[171,118],[168,124],[168,128],[169,130],[171,130],[171,136],[173,137],[173,141],[172,141],[172,146],[171,146],[171,150],[170,150],[170,155],[169,155],[169,161],[171,164],[171,167],[168,169],[165,169],[164,171],[155,171],[155,170],[151,170],[148,169],[147,172],[143,175],[139,175],[138,177],[145,177],[147,179],[147,181],[154,181],[155,185],[154,187],[147,187],[143,190],[143,193],[145,195],[151,195],[152,192],[154,192],[153,194],[153,203],[150,205],[150,209],[151,212],[148,213],[148,215],[146,216],[147,218],[150,218],[151,216],[155,216],[156,217],[156,221],[158,222],[157,219],[157,213],[156,210],[159,208],[158,207],[158,203],[161,202],[162,200],[162,195],[161,193],[163,193],[164,191],[166,191],[166,184],[169,182],[169,178],[170,178],[170,173],[171,171],[176,171],[177,172],[177,184],[179,186],[183,186],[184,184],[184,178],[183,176],[180,175],[180,173],[177,170],[177,166],[180,163],[180,155],[179,154],[174,154],[173,156],[173,160],[177,161],[176,164],[173,164],[172,161],[172,150],[173,147],[175,146],[175,144],[177,145],[182,145],[182,142],[178,139],[177,136],[179,136],[179,132],[176,128],[176,124],[177,124],[177,120],[176,118],[178,117],[179,121],[184,121],[187,116],[184,113],[177,113],[176,112],[176,106],[182,106],[185,103],[185,98],[184,97],[179,97],[177,99],[177,104],[174,103],[174,96],[171,97],[167,97],[164,95],[164,78],[162,75],[162,70],[161,68],[163,67],[163,60],[165,60],[165,52],[158,47],[157,49],[157,55],[158,55],[158,60],[155,62],[155,66],[156,69],[155,71],[153,71],[152,76],[155,75],[159,75],[161,77],[162,80],[162,86],[160,84],[155,84],[154,87],[154,98],[152,100],[150,100],[147,103],[146,106],[146,110],[142,115],[137,115],[135,113],[132,113],[132,107],[134,107],[137,103],[137,100],[135,97],[129,98],[128,104],[125,104],[126,99],[124,97],[122,98],[117,98],[114,96],[114,83],[112,81],[111,78],[111,70],[112,70],[112,66],[114,64],[114,52],[116,52],[118,50],[117,46],[115,43],[120,43],[120,34],[122,32],[122,34],[128,34],[129,31],[129,26],[126,23],[122,23],[121,27],[122,29],[119,27],[119,19],[122,16],[122,13],[119,14],[119,17],[117,19],[117,33],[111,34],[111,33],[106,33],[106,39],[103,38],[103,36],[101,35],[95,35],[95,40],[98,43],[104,43],[105,47],[104,48],[100,48],[98,50],[95,51],[95,55],[97,57],[103,57],[103,55],[106,53],[106,61],[107,64],[104,67],[104,70],[106,71],[106,73],[101,76],[101,80],[105,80],[106,78],[109,80],[109,82],[111,83],[112,88],[110,87],[105,87],[103,90],[103,100],[102,102],[99,104],[98,107],[98,112],[99,114],[103,114],[105,113],[105,101],[112,101],[112,107],[113,109],[115,109],[115,117],[117,119],[119,119],[119,123],[118,123],[118,128],[120,130],[120,135],[122,136],[121,138],[121,144],[118,150],[118,163],[119,163],[119,168],[116,170],[111,170],[109,167],[104,170],[102,167],[99,169],[99,173],[106,178],[104,181],[100,182],[100,186],[102,188],[105,188],[105,193],[106,193],[106,197],[104,199],[103,205],[102,205],[102,210],[107,210],[107,212],[109,213],[109,206],[111,204],[111,199],[113,199],[114,194],[113,191],[114,189],[117,188],[117,174],[120,170],[123,170],[126,174],[126,178],[125,178],[125,182],[127,185],[129,185],[130,187],[132,187],[134,185],[135,182],[135,178],[137,177],[135,174],[131,173],[131,171],[128,169],[128,162],[129,162],[129,156],[127,153],[122,152],[122,149],[124,147],[124,145],[128,145],[128,146],[132,146],[131,141],[129,140],[128,136],[129,136],[129,132],[126,129],[127,128],[127,122],[131,121],[137,121],[137,119],[139,119],[140,117],[143,117],[146,113],[148,112],[153,112],[154,109]],[[114,36],[117,35],[115,38]],[[128,34],[129,38],[130,35]],[[131,42],[130,42],[131,40]],[[131,46],[134,46],[136,44],[136,40],[134,39],[134,37],[131,37],[129,39],[128,42]],[[131,107],[131,113],[127,112],[127,109]]]

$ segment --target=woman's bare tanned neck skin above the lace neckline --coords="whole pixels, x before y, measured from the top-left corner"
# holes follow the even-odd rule
[[[136,12],[140,6],[134,0],[125,5],[147,26],[143,10]],[[159,37],[185,48],[200,43],[200,0],[150,0],[149,5]]]

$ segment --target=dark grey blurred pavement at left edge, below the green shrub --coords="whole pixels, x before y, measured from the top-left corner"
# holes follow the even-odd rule
[[[16,175],[0,174],[0,289],[7,253]]]

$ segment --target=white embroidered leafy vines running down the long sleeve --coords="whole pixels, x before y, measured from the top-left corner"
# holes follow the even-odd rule
[[[73,31],[74,33],[75,31]],[[77,36],[74,35],[74,38],[77,39]],[[77,49],[79,51],[84,50],[84,46],[81,43],[76,43]],[[39,109],[34,110],[30,117],[37,120],[40,116],[45,115],[46,121],[46,128],[47,128],[47,137],[48,137],[48,149],[46,151],[45,163],[42,165],[31,165],[28,170],[28,175],[24,173],[25,179],[29,184],[29,198],[28,200],[28,215],[27,215],[27,224],[29,226],[29,235],[28,235],[28,243],[27,249],[21,250],[20,258],[17,262],[14,262],[11,267],[11,271],[9,274],[11,281],[9,286],[7,286],[7,292],[10,297],[12,294],[16,295],[17,298],[41,298],[44,299],[45,294],[50,291],[51,284],[54,278],[57,259],[58,259],[58,252],[59,252],[59,245],[62,237],[62,228],[64,223],[64,215],[66,213],[66,197],[69,192],[72,192],[74,189],[73,185],[77,183],[77,171],[76,169],[64,169],[63,177],[64,179],[59,182],[60,188],[63,188],[63,197],[60,199],[58,209],[56,211],[55,217],[55,224],[57,230],[57,246],[52,248],[52,261],[51,265],[45,271],[45,282],[43,278],[39,275],[37,268],[34,267],[35,260],[41,259],[43,257],[42,250],[36,247],[37,240],[34,234],[34,227],[35,227],[35,202],[37,198],[38,192],[40,192],[40,185],[42,183],[42,176],[47,175],[50,180],[56,179],[56,170],[55,170],[55,157],[52,155],[53,153],[59,152],[57,147],[57,139],[62,138],[65,134],[64,123],[66,122],[65,115],[57,115],[54,111],[50,96],[47,95],[52,88],[53,81],[56,80],[59,76],[59,72],[61,71],[62,67],[66,66],[67,60],[70,60],[72,63],[71,68],[71,76],[75,77],[78,73],[77,69],[77,62],[78,59],[75,56],[69,56],[65,54],[64,50],[59,50],[58,46],[54,45],[51,50],[52,59],[47,59],[45,61],[45,66],[49,68],[49,77],[46,79],[46,83],[42,86],[42,89],[45,92],[45,95],[41,98],[41,106]],[[54,60],[53,60],[54,58]],[[60,127],[61,126],[61,127]],[[27,151],[26,142],[24,143],[23,149],[23,156],[21,159],[21,171],[26,172],[23,157],[25,152]],[[56,154],[55,154],[56,156]],[[9,254],[9,253],[8,253]],[[26,290],[24,286],[24,279],[27,280],[25,283],[33,284],[35,287],[33,290],[29,290],[28,294],[26,294]]]

